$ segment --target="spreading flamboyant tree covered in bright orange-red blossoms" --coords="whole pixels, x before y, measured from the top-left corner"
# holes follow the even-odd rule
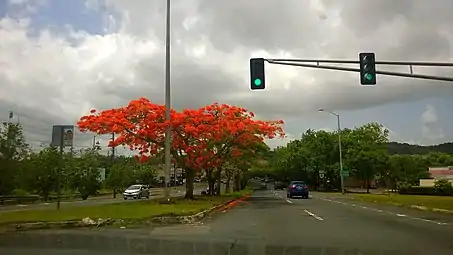
[[[165,129],[171,128],[171,154],[186,172],[186,197],[193,198],[196,171],[221,165],[236,146],[245,147],[265,138],[283,136],[283,121],[253,120],[253,113],[235,106],[213,104],[181,112],[172,110],[165,120],[165,107],[140,98],[126,107],[83,116],[78,126],[82,132],[116,133],[110,146],[128,145],[137,150],[141,160],[160,154],[164,148]]]

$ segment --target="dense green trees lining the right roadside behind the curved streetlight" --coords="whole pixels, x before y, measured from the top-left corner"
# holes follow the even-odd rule
[[[430,166],[453,165],[453,156],[440,152],[392,155],[389,153],[388,131],[376,122],[343,129],[341,144],[343,167],[350,176],[346,179],[361,181],[365,187],[376,181],[381,186],[408,190],[418,185],[419,179],[430,177]],[[269,154],[272,174],[266,175],[281,181],[300,179],[313,187],[338,189],[338,145],[338,132],[307,130],[300,139]]]

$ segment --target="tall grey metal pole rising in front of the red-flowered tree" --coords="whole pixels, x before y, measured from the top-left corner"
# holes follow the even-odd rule
[[[165,120],[170,120],[171,94],[170,94],[170,0],[167,0],[167,22],[165,29]],[[169,174],[171,170],[171,127],[165,129],[165,187],[164,199],[170,200],[168,190]]]

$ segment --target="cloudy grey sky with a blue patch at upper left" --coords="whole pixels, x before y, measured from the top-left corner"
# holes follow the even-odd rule
[[[91,108],[147,97],[164,102],[165,0],[0,0],[0,120],[24,126],[34,147],[54,124]],[[250,91],[249,58],[453,61],[451,0],[172,0],[174,108],[213,102],[283,119],[288,139],[306,129],[378,121],[390,138],[453,140],[453,83],[266,65],[265,91]],[[408,72],[407,67],[380,70]],[[453,69],[415,68],[453,76]],[[105,139],[101,145],[106,146]],[[76,133],[77,148],[92,136]]]

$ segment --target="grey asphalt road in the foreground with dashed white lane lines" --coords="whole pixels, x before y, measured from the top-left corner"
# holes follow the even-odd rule
[[[96,254],[451,255],[453,216],[358,203],[328,194],[286,199],[284,192],[268,190],[255,192],[248,201],[198,224],[51,230],[30,232],[16,239],[2,238],[5,236],[0,236],[0,254],[92,254],[72,250],[86,248],[97,250]],[[16,246],[21,248],[2,250],[2,246],[13,246],[18,240],[22,243]],[[68,249],[64,253],[56,249],[55,240]],[[230,253],[222,249],[230,249]]]

